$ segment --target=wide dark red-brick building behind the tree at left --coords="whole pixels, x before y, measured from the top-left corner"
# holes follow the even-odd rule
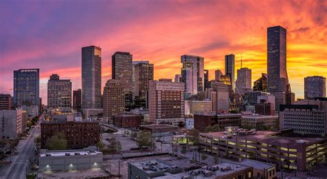
[[[47,140],[59,132],[66,136],[69,149],[83,149],[84,147],[94,146],[100,140],[100,125],[98,121],[42,121],[41,149],[46,148]]]

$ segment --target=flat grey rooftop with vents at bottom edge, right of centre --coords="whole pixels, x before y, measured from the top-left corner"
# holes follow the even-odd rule
[[[210,167],[218,167],[217,171],[211,171]],[[226,176],[229,175],[231,173],[235,173],[237,171],[242,171],[244,169],[250,169],[252,167],[248,167],[246,165],[239,165],[237,163],[232,163],[232,162],[224,162],[221,163],[219,165],[214,165],[214,166],[210,166],[210,167],[203,167],[202,169],[195,169],[192,171],[199,171],[199,170],[203,170],[206,173],[208,173],[208,176],[204,176],[203,173],[199,173],[195,176],[195,178],[197,179],[202,179],[202,178],[213,178],[213,177],[217,177],[217,176]],[[221,171],[221,168],[227,168],[230,167],[230,170],[227,171]],[[166,178],[175,178],[175,179],[180,179],[183,178],[185,176],[190,176],[192,171],[186,171],[186,172],[181,172],[181,173],[165,173],[165,176],[159,176],[159,177],[155,177],[156,179],[166,179]],[[210,173],[210,174],[209,174]]]

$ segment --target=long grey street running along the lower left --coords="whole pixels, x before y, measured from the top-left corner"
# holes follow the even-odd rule
[[[6,179],[26,178],[26,171],[29,167],[29,160],[34,157],[34,138],[40,135],[39,124],[30,129],[30,136],[25,140],[20,140],[17,149],[17,156],[12,157],[12,163],[8,167],[4,176]]]

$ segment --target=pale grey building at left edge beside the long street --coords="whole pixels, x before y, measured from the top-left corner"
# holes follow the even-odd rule
[[[0,110],[0,138],[17,138],[22,132],[22,109]]]

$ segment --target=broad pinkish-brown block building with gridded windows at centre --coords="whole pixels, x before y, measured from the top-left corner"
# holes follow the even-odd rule
[[[149,119],[152,123],[184,123],[184,83],[150,81]]]

